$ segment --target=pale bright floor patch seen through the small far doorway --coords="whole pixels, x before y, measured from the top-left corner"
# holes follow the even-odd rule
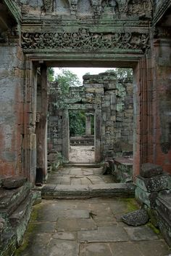
[[[94,163],[94,149],[88,145],[70,146],[71,163]]]

